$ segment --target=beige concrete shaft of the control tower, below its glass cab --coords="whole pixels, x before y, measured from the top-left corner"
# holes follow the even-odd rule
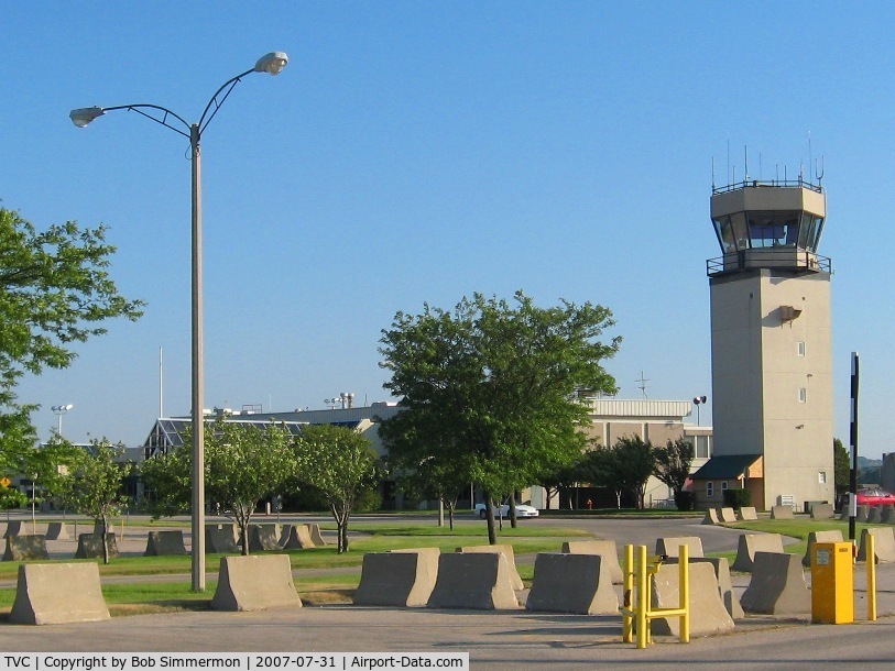
[[[765,508],[832,503],[830,276],[761,270],[710,287],[716,454],[764,454]]]

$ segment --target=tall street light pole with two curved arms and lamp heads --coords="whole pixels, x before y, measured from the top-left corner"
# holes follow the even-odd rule
[[[161,123],[165,128],[179,133],[189,140],[190,160],[193,164],[193,591],[205,592],[205,417],[203,415],[204,376],[203,376],[203,295],[201,295],[201,152],[199,144],[201,134],[215,118],[220,106],[227,100],[233,87],[247,75],[252,73],[268,73],[279,75],[286,64],[288,56],[283,52],[272,52],[258,59],[254,67],[228,79],[215,91],[208,105],[205,106],[197,123],[188,123],[178,114],[157,105],[119,105],[116,107],[88,107],[72,110],[68,114],[72,122],[84,128],[97,117],[112,110],[128,110],[137,112]],[[178,122],[173,125],[174,122]]]

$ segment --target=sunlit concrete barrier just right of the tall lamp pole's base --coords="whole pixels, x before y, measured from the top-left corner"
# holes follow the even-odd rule
[[[288,554],[221,557],[212,610],[302,607]]]

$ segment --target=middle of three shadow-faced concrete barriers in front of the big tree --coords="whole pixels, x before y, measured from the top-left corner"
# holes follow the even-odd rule
[[[503,552],[443,552],[430,608],[519,608]]]

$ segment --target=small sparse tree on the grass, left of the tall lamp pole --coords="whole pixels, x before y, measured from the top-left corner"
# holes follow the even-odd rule
[[[94,440],[90,448],[79,450],[66,477],[44,483],[53,496],[99,524],[105,564],[109,563],[109,518],[120,512],[125,498],[121,496],[122,480],[133,470],[133,464],[120,460],[123,452],[123,446]]]

